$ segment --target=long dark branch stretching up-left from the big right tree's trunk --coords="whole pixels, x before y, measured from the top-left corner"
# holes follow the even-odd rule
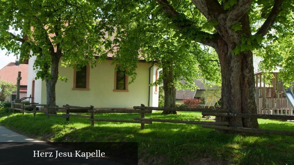
[[[173,6],[167,1],[167,0],[156,0],[159,5],[162,6],[162,10],[165,14],[167,14],[168,18],[171,18],[173,23],[176,25],[178,30],[185,35],[185,32],[183,29],[185,28],[193,28],[193,22],[188,20],[184,15],[178,13]],[[203,31],[199,31],[199,29],[195,28],[196,35],[193,38],[196,40],[197,38],[201,38],[201,41],[199,43],[211,46],[215,48],[217,46],[215,42],[215,37],[218,36],[218,34],[210,34]],[[198,42],[197,41],[197,42]]]

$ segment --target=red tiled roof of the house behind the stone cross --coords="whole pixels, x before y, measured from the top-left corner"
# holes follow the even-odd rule
[[[16,79],[19,71],[21,72],[20,85],[27,86],[28,64],[15,65],[15,63],[13,62],[7,64],[4,68],[0,70],[0,79],[6,80],[16,85]]]

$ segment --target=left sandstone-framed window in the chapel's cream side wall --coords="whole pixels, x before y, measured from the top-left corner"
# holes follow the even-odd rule
[[[81,67],[79,70],[74,68],[74,87],[73,90],[90,90],[89,89],[89,65]]]

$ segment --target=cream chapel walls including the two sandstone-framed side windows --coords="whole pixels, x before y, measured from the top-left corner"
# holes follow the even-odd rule
[[[33,64],[36,56],[29,59],[27,96],[34,97],[33,102],[46,104],[46,83],[35,80]],[[95,108],[132,108],[133,106],[158,107],[157,87],[149,86],[158,78],[158,66],[138,60],[136,80],[128,85],[128,76],[124,71],[115,72],[111,63],[112,55],[101,64],[91,68],[89,65],[81,71],[76,68],[59,66],[59,75],[66,76],[67,82],[58,80],[56,84],[56,105],[90,106]]]

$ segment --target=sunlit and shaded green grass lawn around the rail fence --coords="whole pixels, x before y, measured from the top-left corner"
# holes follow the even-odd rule
[[[146,114],[148,118],[205,120],[201,112]],[[138,142],[140,164],[294,164],[294,137],[223,134],[199,124],[95,122],[82,117],[50,117],[0,112],[0,124],[29,137],[54,142]],[[140,114],[95,114],[96,118],[133,119]],[[294,122],[259,119],[261,129],[294,131]]]

